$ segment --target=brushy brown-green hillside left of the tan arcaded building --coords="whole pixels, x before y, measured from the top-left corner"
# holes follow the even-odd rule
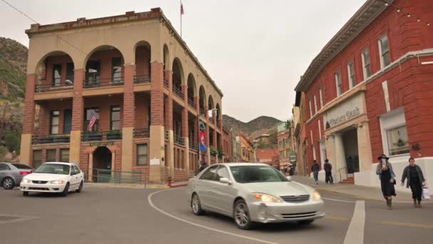
[[[4,81],[9,94],[3,100],[16,101],[24,98],[28,49],[17,41],[0,37],[0,80]]]

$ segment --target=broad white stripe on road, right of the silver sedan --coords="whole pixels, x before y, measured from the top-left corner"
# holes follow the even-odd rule
[[[344,238],[344,244],[362,244],[364,243],[364,225],[365,225],[365,201],[357,200],[355,210],[350,221],[348,232]]]

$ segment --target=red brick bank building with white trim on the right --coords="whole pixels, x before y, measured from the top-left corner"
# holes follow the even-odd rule
[[[308,110],[308,171],[329,158],[339,181],[379,185],[385,153],[399,178],[410,156],[433,177],[429,23],[433,1],[368,0],[313,59],[296,86]]]

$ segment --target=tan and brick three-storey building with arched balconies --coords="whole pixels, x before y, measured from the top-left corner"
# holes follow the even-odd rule
[[[182,181],[199,161],[198,119],[203,159],[218,162],[209,148],[222,148],[223,94],[161,9],[33,24],[26,34],[23,163],[76,161],[89,175],[102,168]]]

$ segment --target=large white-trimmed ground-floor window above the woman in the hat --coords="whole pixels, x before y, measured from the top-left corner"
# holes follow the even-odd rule
[[[382,145],[389,156],[407,156],[410,153],[405,111],[399,108],[380,117]]]

